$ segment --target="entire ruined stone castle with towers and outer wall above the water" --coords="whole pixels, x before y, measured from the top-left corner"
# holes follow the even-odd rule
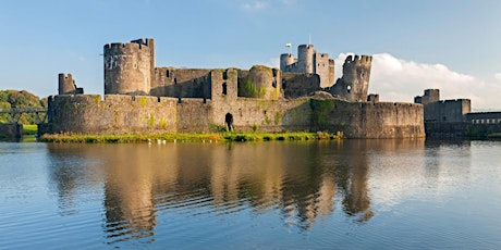
[[[423,105],[368,93],[372,58],[350,55],[335,84],[334,61],[313,45],[279,68],[155,65],[155,40],[105,45],[105,98],[82,95],[71,75],[49,97],[49,132],[82,134],[235,130],[343,132],[349,138],[424,137]]]

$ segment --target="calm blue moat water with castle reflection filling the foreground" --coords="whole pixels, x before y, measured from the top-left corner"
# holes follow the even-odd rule
[[[501,249],[501,141],[0,143],[0,249]]]

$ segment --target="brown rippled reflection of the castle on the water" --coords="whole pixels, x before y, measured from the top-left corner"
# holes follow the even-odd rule
[[[365,223],[375,216],[368,184],[370,166],[379,164],[375,155],[424,146],[424,140],[346,140],[48,148],[60,162],[50,176],[61,204],[72,204],[69,193],[82,188],[78,178],[89,176],[86,171],[102,172],[102,227],[113,243],[155,241],[156,227],[166,223],[160,214],[223,216],[278,210],[283,224],[308,229],[340,205],[354,223]],[[82,165],[78,159],[97,166]]]

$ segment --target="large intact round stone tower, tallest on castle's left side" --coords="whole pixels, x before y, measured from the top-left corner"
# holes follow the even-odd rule
[[[105,46],[105,95],[149,95],[154,71],[154,39]]]

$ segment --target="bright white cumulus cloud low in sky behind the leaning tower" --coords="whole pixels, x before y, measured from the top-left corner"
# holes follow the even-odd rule
[[[345,58],[353,53],[341,53],[335,60],[335,75],[341,77]],[[501,73],[496,75],[501,82]],[[472,100],[473,109],[501,108],[497,93],[501,86],[486,83],[475,76],[450,70],[443,64],[427,64],[398,59],[389,53],[372,55],[369,92],[379,93],[381,101],[413,102],[429,88],[440,89],[441,99]]]

